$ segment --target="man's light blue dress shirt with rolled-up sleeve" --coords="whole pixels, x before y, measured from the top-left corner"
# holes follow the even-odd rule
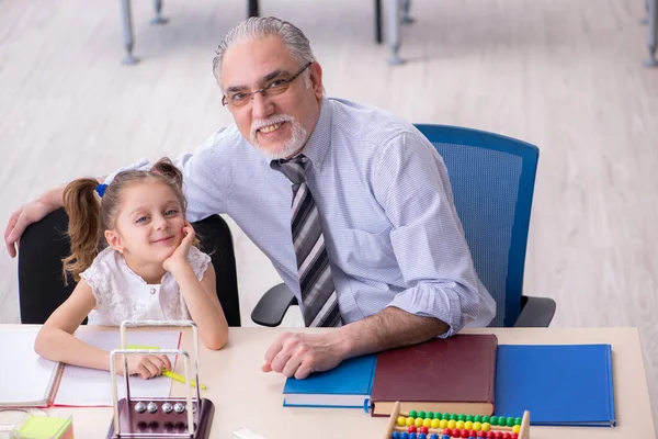
[[[475,272],[447,171],[420,132],[381,110],[324,98],[303,154],[343,322],[387,306],[445,322],[445,336],[491,322],[496,304]],[[229,215],[299,300],[291,182],[270,161],[231,125],[174,164],[189,221]]]

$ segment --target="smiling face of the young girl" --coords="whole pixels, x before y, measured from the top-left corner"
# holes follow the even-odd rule
[[[121,195],[110,246],[136,263],[162,263],[183,239],[185,217],[175,193],[161,181],[128,185]]]

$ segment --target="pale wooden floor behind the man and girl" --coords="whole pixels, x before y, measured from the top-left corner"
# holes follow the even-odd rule
[[[178,156],[230,123],[211,61],[243,1],[134,2],[125,67],[118,2],[0,0],[0,224],[44,190],[140,157]],[[642,66],[642,0],[413,0],[404,66],[374,44],[372,1],[263,0],[304,30],[329,95],[411,122],[488,130],[541,149],[525,292],[554,326],[638,326],[658,419],[658,69]],[[237,227],[243,322],[279,278]],[[0,255],[0,322],[18,322]],[[47,292],[44,292],[47,293]],[[299,323],[292,315],[290,325]]]

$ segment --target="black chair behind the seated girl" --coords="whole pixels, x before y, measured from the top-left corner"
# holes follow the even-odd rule
[[[240,302],[232,237],[219,215],[192,223],[201,249],[211,256],[217,277],[217,296],[229,326],[240,326]],[[20,241],[19,296],[21,322],[43,324],[71,294],[75,281],[64,284],[61,259],[69,251],[68,216],[59,209],[30,225]]]

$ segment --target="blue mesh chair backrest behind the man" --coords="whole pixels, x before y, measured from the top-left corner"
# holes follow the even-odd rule
[[[475,269],[496,300],[490,326],[512,326],[521,311],[538,148],[477,130],[416,127],[447,168]]]

